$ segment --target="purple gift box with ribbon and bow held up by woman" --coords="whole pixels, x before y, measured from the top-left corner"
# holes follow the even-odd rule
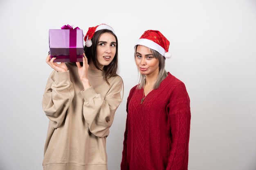
[[[50,59],[54,62],[83,61],[83,30],[64,25],[61,29],[49,29]]]

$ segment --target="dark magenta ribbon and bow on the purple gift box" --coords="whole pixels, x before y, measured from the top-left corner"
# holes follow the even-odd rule
[[[76,30],[80,28],[76,27],[73,29],[70,25],[63,25],[61,29],[70,30],[70,62],[76,62]]]

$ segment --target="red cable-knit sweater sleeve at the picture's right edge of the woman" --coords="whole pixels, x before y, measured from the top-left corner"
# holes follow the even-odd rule
[[[166,170],[187,170],[191,113],[190,99],[184,83],[174,87],[167,108],[172,144]]]

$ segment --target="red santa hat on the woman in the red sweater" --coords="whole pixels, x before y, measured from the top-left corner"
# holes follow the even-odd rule
[[[159,52],[165,58],[171,58],[171,52],[168,52],[170,42],[162,33],[156,30],[147,30],[145,31],[139,40],[136,42],[136,45],[146,46],[153,50]]]

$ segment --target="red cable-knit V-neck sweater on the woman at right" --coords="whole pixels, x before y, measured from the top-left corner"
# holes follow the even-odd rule
[[[130,90],[121,170],[187,170],[190,100],[182,81],[168,73],[141,103]]]

